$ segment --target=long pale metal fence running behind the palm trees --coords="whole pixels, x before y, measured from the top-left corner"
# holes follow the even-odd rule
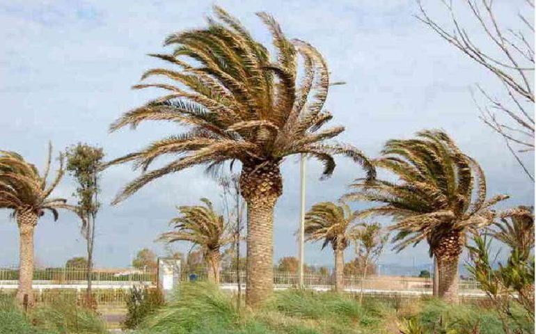
[[[204,267],[182,267],[181,280],[206,280]],[[240,271],[240,282],[245,287],[246,272]],[[34,298],[37,303],[57,301],[77,301],[85,294],[86,270],[81,268],[36,269],[33,274]],[[224,289],[237,289],[235,269],[223,268],[220,283]],[[333,288],[335,278],[332,272],[304,273],[304,287],[319,291]],[[93,272],[93,299],[101,307],[124,308],[129,298],[129,289],[134,285],[155,287],[157,271],[138,269],[95,269]],[[285,289],[298,287],[297,273],[274,269],[274,287]],[[14,294],[18,285],[16,268],[0,269],[0,293]],[[346,275],[345,289],[349,294],[361,294],[365,300],[388,303],[393,307],[409,305],[416,299],[432,294],[432,278],[414,276],[362,276]],[[462,301],[482,299],[483,293],[478,283],[471,279],[459,280]]]

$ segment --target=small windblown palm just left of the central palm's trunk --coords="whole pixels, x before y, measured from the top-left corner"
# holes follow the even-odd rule
[[[189,241],[200,248],[205,262],[210,265],[208,279],[219,283],[220,248],[235,238],[228,231],[223,215],[214,211],[212,202],[207,198],[201,198],[201,202],[205,206],[178,207],[180,216],[170,222],[173,231],[161,234],[159,239],[167,242]]]

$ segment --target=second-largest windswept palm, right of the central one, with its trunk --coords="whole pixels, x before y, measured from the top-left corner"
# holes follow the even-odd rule
[[[459,255],[466,232],[493,220],[489,207],[507,196],[486,200],[484,171],[444,132],[418,132],[418,138],[391,140],[374,161],[398,177],[398,182],[356,180],[356,192],[345,198],[379,202],[359,215],[391,216],[397,230],[395,250],[426,240],[439,270],[439,296],[457,302]]]

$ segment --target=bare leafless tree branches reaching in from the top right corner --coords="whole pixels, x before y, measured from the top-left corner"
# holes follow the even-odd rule
[[[498,98],[477,84],[472,91],[479,93],[486,103],[482,106],[476,102],[474,94],[473,100],[480,111],[480,119],[504,138],[508,150],[534,182],[533,174],[519,154],[534,151],[534,3],[532,0],[521,1],[524,5],[517,13],[519,26],[513,29],[500,24],[493,0],[460,1],[460,8],[455,8],[452,0],[441,0],[450,24],[432,19],[421,0],[417,0],[420,10],[417,18],[499,79],[505,97]],[[478,32],[467,28],[459,10],[468,12],[473,19],[468,24],[476,24],[482,29],[486,40],[475,42]]]

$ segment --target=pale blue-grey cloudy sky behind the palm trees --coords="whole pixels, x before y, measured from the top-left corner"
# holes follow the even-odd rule
[[[247,2],[247,3],[246,3]],[[278,20],[289,38],[307,40],[324,54],[333,81],[326,109],[333,125],[345,125],[340,140],[375,157],[390,138],[409,138],[425,128],[446,130],[484,168],[489,196],[512,196],[502,207],[534,202],[533,183],[523,175],[503,141],[478,120],[469,88],[477,82],[497,96],[500,83],[491,74],[450,47],[413,16],[414,1],[285,0],[285,1],[4,1],[0,4],[0,148],[14,150],[43,166],[47,142],[55,152],[79,141],[100,145],[109,159],[132,152],[180,129],[162,123],[144,124],[109,134],[121,113],[159,92],[134,91],[141,73],[161,65],[146,56],[168,51],[161,45],[175,31],[205,25],[213,3],[236,15],[258,40],[269,33],[255,13],[265,10]],[[439,1],[425,4],[436,17],[445,11]],[[520,5],[521,4],[521,5]],[[523,1],[499,1],[497,13],[507,26]],[[521,7],[520,7],[521,6]],[[530,17],[532,19],[532,17]],[[482,35],[474,31],[475,41]],[[294,231],[299,221],[299,165],[283,164],[284,194],[276,207],[274,255],[296,255]],[[526,157],[534,169],[533,155]],[[347,184],[363,173],[340,159],[331,179],[318,180],[320,166],[308,164],[308,207],[336,200]],[[137,250],[164,250],[154,240],[168,228],[175,205],[193,205],[200,197],[219,203],[218,188],[194,168],[145,186],[117,207],[109,202],[137,172],[117,166],[102,177],[103,206],[98,216],[97,267],[123,267]],[[56,194],[70,197],[65,178]],[[17,264],[18,234],[8,211],[0,211],[0,266]],[[69,213],[58,221],[42,217],[36,230],[39,265],[62,265],[85,254],[79,223]],[[181,244],[176,249],[187,251]],[[351,251],[347,252],[347,258]],[[332,254],[320,244],[306,247],[306,261],[331,264]],[[425,245],[400,254],[386,251],[383,264],[427,263]]]

